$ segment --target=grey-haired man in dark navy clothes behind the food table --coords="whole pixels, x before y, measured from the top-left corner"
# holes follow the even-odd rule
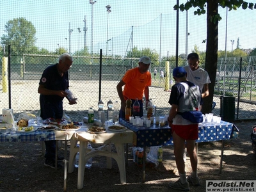
[[[68,53],[61,54],[59,62],[45,68],[39,82],[38,93],[40,93],[40,116],[43,120],[54,118],[60,122],[63,116],[63,98],[67,97],[65,90],[68,89],[68,69],[73,62],[72,56]],[[76,100],[69,100],[69,104],[76,104]],[[56,141],[45,141],[45,166],[55,168]],[[63,161],[58,156],[58,162]],[[57,168],[61,168],[57,164]]]

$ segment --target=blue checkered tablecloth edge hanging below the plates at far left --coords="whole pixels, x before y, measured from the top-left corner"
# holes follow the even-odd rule
[[[54,131],[0,134],[0,142],[56,140]]]

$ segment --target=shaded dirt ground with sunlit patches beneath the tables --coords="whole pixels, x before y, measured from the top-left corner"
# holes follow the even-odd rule
[[[190,186],[190,191],[205,191],[205,180],[255,180],[256,159],[250,140],[255,121],[237,121],[235,124],[239,129],[239,137],[225,141],[221,174],[221,142],[199,143],[200,186]],[[64,149],[61,148],[59,153],[63,156]],[[131,146],[126,184],[120,184],[114,159],[112,164],[113,168],[108,170],[106,157],[94,157],[92,168],[84,172],[84,188],[80,190],[77,189],[77,168],[74,168],[73,173],[67,173],[67,191],[170,191],[168,184],[175,182],[179,175],[173,146],[163,147],[163,163],[156,168],[146,168],[145,183],[142,183],[142,169],[132,161]],[[191,166],[187,157],[187,175],[190,172]],[[0,143],[0,191],[63,191],[63,175],[64,169],[54,170],[44,166],[41,143]]]

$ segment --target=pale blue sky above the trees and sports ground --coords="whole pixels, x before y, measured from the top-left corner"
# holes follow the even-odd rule
[[[0,0],[0,36],[5,34],[4,25],[8,20],[25,17],[36,28],[36,47],[40,49],[54,51],[64,47],[74,52],[83,49],[86,36],[86,46],[89,51],[93,47],[93,52],[102,49],[103,54],[124,55],[132,46],[137,46],[139,49],[155,49],[161,56],[175,55],[177,12],[173,6],[176,1],[99,0],[94,4],[89,1]],[[108,4],[110,13],[106,8]],[[186,52],[186,28],[189,33],[188,52],[195,45],[200,51],[205,51],[206,44],[202,41],[206,39],[206,14],[198,16],[193,12],[193,9],[188,12],[188,23],[186,12],[179,12],[179,54]],[[220,8],[219,13],[222,17],[219,22],[219,50],[224,51],[226,45],[227,51],[236,49],[238,38],[241,49],[256,47],[256,10],[239,8],[227,14],[226,9]],[[83,31],[85,17],[86,35]],[[81,28],[81,33],[77,28]],[[70,29],[73,29],[72,33],[69,33]]]

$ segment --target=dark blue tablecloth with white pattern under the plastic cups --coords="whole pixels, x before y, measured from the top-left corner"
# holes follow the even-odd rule
[[[173,145],[171,129],[168,125],[160,127],[156,124],[151,127],[132,125],[125,121],[124,118],[119,119],[119,124],[124,125],[137,136],[137,147],[151,147],[157,145]],[[239,130],[236,125],[230,122],[221,121],[220,124],[202,123],[198,127],[198,140],[200,142],[229,140],[236,138]]]

